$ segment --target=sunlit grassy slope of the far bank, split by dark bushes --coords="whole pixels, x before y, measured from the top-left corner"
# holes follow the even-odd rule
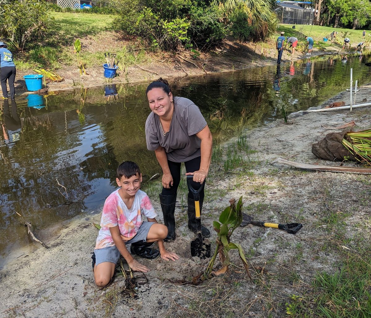
[[[116,30],[113,15],[86,14],[86,13],[59,13],[53,12],[54,23],[50,27],[46,40],[28,47],[23,55],[16,56],[16,66],[19,70],[33,69],[35,67],[61,69],[75,66],[76,56],[73,52],[73,42],[80,39],[82,51],[80,53],[86,67],[100,66],[105,63],[104,52],[115,52],[116,59],[121,65],[134,65],[137,63],[150,63],[157,60],[161,54],[154,54],[139,39],[127,38],[123,32]],[[324,42],[323,38],[336,30],[338,42]],[[296,29],[288,24],[282,24],[276,34],[264,42],[254,44],[238,44],[250,51],[261,47],[262,51],[275,52],[275,40],[281,31],[285,36],[295,36],[299,39],[298,51],[303,52],[306,41],[305,35],[315,40],[315,49],[341,49],[342,37],[347,34],[354,47],[362,41],[362,30],[334,29],[322,26],[296,25]],[[367,31],[367,45],[371,45],[371,31]],[[254,49],[254,50],[255,50]],[[260,50],[259,50],[260,51]]]

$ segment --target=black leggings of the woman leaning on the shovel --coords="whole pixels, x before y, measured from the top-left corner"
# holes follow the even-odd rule
[[[173,177],[173,185],[170,186],[170,189],[162,187],[162,195],[173,195],[177,192],[179,182],[180,182],[180,162],[174,162],[167,160],[167,163],[169,165],[171,176]],[[201,157],[197,157],[188,161],[184,162],[185,170],[187,172],[195,172],[200,169],[200,163],[201,163]],[[191,186],[193,189],[198,190],[200,189],[201,183],[200,182],[194,182],[191,181]],[[188,191],[188,198],[193,199],[193,194]],[[200,201],[202,202],[204,199],[204,188],[200,192]]]

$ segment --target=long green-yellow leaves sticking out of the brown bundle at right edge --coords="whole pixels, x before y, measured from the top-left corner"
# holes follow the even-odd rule
[[[346,133],[342,144],[359,162],[371,166],[371,129]]]

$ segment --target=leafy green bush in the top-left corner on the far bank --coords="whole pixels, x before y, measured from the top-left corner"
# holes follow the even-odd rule
[[[5,0],[0,13],[0,37],[23,51],[26,43],[42,39],[53,21],[50,6],[40,0]]]

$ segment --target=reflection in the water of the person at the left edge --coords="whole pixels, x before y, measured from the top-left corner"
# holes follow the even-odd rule
[[[20,131],[22,128],[21,120],[17,113],[17,104],[14,99],[11,101],[12,110],[9,111],[9,102],[4,100],[4,124],[3,135],[4,142],[8,146],[14,146],[15,143],[20,139]]]

